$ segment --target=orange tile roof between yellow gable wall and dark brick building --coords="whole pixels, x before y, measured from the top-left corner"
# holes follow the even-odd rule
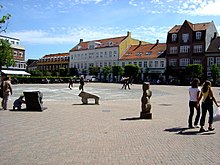
[[[120,60],[154,59],[166,50],[166,43],[132,45]]]

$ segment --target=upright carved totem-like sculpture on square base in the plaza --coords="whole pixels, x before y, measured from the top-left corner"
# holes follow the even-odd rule
[[[144,82],[142,86],[143,96],[141,97],[141,119],[152,119],[150,98],[152,91],[150,90],[150,83]]]

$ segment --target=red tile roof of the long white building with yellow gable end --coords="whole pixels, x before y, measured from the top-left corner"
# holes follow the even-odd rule
[[[107,39],[100,39],[100,40],[93,40],[93,41],[86,41],[86,42],[80,42],[75,47],[73,47],[71,51],[77,51],[77,50],[87,50],[89,43],[95,43],[96,49],[97,48],[103,48],[108,46],[119,46],[119,44],[126,38],[127,36],[121,36],[121,37],[115,37],[115,38],[107,38]]]

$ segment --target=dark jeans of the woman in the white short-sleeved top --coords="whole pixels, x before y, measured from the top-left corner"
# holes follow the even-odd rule
[[[188,119],[189,126],[192,126],[194,108],[197,111],[196,118],[195,118],[195,121],[194,121],[194,125],[198,125],[199,118],[200,118],[200,106],[197,107],[197,102],[196,101],[189,101],[189,110],[190,110],[189,119]]]

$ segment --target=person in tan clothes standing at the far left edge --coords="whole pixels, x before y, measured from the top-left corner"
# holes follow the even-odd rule
[[[3,81],[3,99],[2,99],[2,108],[7,110],[8,108],[8,99],[10,94],[12,95],[12,86],[10,82],[10,77],[6,76]]]

